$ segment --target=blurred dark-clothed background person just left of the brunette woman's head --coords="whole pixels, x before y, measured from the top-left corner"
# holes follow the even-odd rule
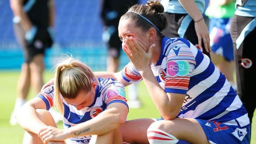
[[[138,0],[103,0],[101,8],[101,19],[104,24],[102,39],[108,45],[107,71],[117,72],[119,65],[120,50],[122,42],[118,37],[118,23],[126,10],[139,3]],[[128,97],[130,108],[141,107],[138,99],[137,85],[132,84],[128,87]]]

